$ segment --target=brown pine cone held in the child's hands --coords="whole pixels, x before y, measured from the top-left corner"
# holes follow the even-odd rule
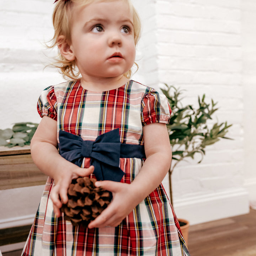
[[[79,177],[69,186],[68,203],[63,204],[60,210],[64,219],[75,226],[81,224],[86,228],[111,202],[112,193],[95,187],[95,181],[94,178]]]

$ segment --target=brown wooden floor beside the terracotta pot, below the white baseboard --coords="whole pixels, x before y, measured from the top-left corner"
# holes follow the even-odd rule
[[[191,256],[256,256],[256,210],[190,227]],[[22,250],[3,256],[20,256]]]

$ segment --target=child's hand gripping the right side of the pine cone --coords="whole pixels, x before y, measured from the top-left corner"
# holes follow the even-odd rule
[[[88,225],[88,228],[118,226],[141,201],[139,195],[127,183],[96,181],[95,186],[111,191],[113,199],[108,207]]]

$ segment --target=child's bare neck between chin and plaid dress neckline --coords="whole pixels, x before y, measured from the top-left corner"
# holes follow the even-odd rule
[[[114,78],[84,78],[80,79],[81,86],[89,91],[102,92],[117,89],[129,81],[125,76]]]

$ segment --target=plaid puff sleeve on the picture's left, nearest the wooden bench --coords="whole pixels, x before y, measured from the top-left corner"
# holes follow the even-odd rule
[[[41,117],[48,116],[57,120],[57,98],[53,86],[43,90],[37,102],[37,111]]]

